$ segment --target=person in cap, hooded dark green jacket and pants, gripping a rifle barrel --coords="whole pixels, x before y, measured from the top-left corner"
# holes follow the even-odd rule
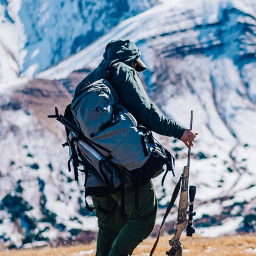
[[[77,85],[75,95],[88,84],[104,78],[106,69],[114,63],[108,79],[118,94],[119,101],[135,116],[138,123],[158,134],[182,140],[187,147],[193,146],[196,133],[158,113],[150,102],[137,74],[137,71],[146,69],[140,55],[137,46],[129,40],[110,41],[105,48],[104,59],[98,68]],[[157,216],[154,186],[150,181],[138,190],[140,207],[135,210],[134,185],[125,189],[127,221],[121,219],[121,192],[93,196],[94,206],[100,204],[111,212],[104,215],[96,210],[99,225],[96,256],[129,256],[154,229]]]

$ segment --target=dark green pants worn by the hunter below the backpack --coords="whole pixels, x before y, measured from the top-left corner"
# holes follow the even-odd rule
[[[147,238],[155,226],[157,199],[152,182],[138,188],[138,210],[135,210],[134,185],[125,189],[127,221],[121,219],[121,192],[93,197],[93,205],[110,210],[104,215],[96,210],[99,233],[96,256],[129,256]]]

